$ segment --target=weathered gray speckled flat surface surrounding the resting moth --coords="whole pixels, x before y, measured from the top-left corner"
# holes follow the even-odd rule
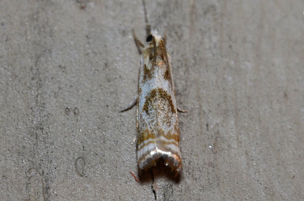
[[[167,32],[179,182],[158,200],[304,200],[304,2],[147,1]],[[154,200],[137,183],[136,1],[0,1],[0,200]]]

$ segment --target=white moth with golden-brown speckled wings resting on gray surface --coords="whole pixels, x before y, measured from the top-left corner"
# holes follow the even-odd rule
[[[141,54],[138,93],[133,103],[122,111],[137,103],[136,144],[140,172],[155,166],[162,158],[176,176],[181,172],[182,163],[171,60],[166,40],[156,30],[151,31],[150,26],[147,26],[147,35],[147,44],[143,45],[133,31]]]

